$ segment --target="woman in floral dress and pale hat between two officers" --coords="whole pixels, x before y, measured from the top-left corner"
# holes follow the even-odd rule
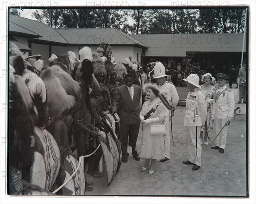
[[[210,83],[214,81],[214,78],[210,73],[206,73],[202,76],[202,82],[204,84],[201,86],[201,92],[205,96],[205,100],[213,98],[213,94],[215,92],[215,87],[212,86]],[[215,124],[214,124],[214,117],[212,115],[213,111],[213,103],[207,102],[207,119],[205,121],[205,124],[201,127],[201,140],[203,140],[203,132],[204,132],[204,145],[208,145],[207,138],[209,139],[208,132],[215,130]],[[203,144],[203,142],[202,142]]]

